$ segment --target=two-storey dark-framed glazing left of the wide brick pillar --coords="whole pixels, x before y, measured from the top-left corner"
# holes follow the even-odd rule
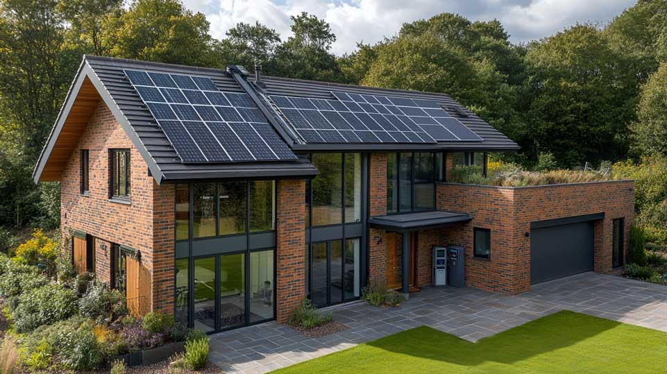
[[[176,320],[206,332],[274,318],[276,182],[176,185]]]

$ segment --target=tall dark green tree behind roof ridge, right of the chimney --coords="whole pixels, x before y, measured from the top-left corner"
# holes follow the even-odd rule
[[[294,35],[276,49],[276,75],[327,82],[344,80],[336,57],[329,52],[336,41],[329,24],[306,12],[291,18]]]

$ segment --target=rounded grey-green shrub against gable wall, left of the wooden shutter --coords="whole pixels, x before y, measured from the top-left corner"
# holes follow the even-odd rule
[[[88,283],[85,294],[78,300],[78,308],[82,316],[97,322],[113,321],[128,313],[125,295],[96,278]]]

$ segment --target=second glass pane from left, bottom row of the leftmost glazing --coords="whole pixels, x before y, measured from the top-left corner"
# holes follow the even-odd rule
[[[194,328],[215,330],[215,257],[194,260]]]

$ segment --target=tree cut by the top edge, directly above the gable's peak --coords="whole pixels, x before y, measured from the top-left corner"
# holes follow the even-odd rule
[[[84,53],[106,56],[102,44],[102,20],[120,10],[122,0],[60,0],[57,10],[69,23],[67,40],[79,46]]]

